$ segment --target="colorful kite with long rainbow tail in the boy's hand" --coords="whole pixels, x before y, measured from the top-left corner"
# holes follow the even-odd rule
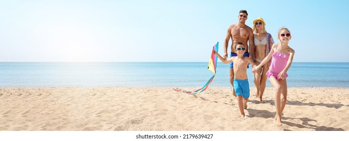
[[[213,46],[212,50],[216,50],[218,52],[218,42],[215,46]],[[215,73],[210,80],[207,81],[207,83],[200,89],[196,90],[196,91],[185,91],[185,90],[181,90],[179,88],[174,89],[177,92],[183,92],[183,93],[187,93],[187,94],[191,94],[191,95],[196,95],[201,93],[202,91],[206,90],[208,85],[210,85],[210,83],[213,81],[213,79],[216,76],[216,67],[217,67],[217,56],[212,52],[211,53],[211,58],[210,58],[210,62],[208,62],[208,70],[211,70],[211,72]]]

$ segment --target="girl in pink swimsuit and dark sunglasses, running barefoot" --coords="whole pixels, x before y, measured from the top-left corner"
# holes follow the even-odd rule
[[[269,54],[263,61],[252,68],[252,71],[255,72],[272,57],[271,65],[266,76],[275,88],[274,102],[276,115],[274,117],[274,124],[278,127],[282,125],[281,113],[284,111],[287,101],[287,70],[291,67],[293,56],[295,55],[295,50],[288,45],[291,38],[291,32],[287,28],[278,30],[277,39],[280,40],[280,43],[273,44]]]

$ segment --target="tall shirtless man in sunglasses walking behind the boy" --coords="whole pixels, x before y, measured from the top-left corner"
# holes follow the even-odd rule
[[[240,10],[239,15],[238,15],[239,22],[236,24],[230,25],[228,27],[227,35],[226,35],[226,38],[224,40],[224,55],[223,55],[223,57],[225,59],[228,58],[228,52],[227,52],[228,43],[229,43],[229,40],[232,39],[230,57],[237,56],[237,54],[234,52],[234,50],[236,49],[235,44],[237,44],[238,42],[242,42],[246,47],[244,56],[249,56],[253,60],[253,54],[254,54],[253,30],[249,26],[245,25],[245,22],[247,20],[247,15],[248,14],[247,14],[246,10]],[[247,44],[247,41],[248,41],[248,44]],[[249,55],[249,54],[251,54],[251,55]],[[233,85],[233,81],[234,81],[233,66],[234,66],[233,62],[231,62],[230,67],[229,67],[229,74],[230,74],[230,83],[233,87],[233,95],[236,97],[236,93],[234,91],[234,85]]]

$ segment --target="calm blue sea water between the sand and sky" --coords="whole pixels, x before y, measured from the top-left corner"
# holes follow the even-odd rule
[[[207,62],[0,62],[0,87],[202,87]],[[210,86],[231,87],[229,64],[218,62]],[[289,87],[349,87],[349,62],[293,62]],[[247,69],[254,87],[251,65]],[[272,87],[269,80],[267,87]]]

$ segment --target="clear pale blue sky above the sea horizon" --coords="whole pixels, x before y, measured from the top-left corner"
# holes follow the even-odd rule
[[[205,62],[241,9],[289,28],[295,62],[349,62],[348,1],[315,0],[1,0],[0,61]]]

